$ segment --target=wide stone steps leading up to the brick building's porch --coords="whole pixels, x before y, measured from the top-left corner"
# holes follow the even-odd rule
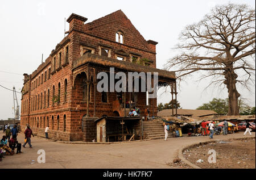
[[[162,120],[143,121],[143,132],[151,140],[164,139],[164,126]],[[171,133],[168,133],[168,138]]]

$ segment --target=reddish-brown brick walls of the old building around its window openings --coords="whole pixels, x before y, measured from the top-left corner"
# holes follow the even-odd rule
[[[113,22],[115,19],[115,22]],[[105,23],[105,25],[102,23]],[[101,28],[98,28],[101,25]],[[92,28],[92,29],[90,29]],[[122,31],[124,36],[124,43],[115,42],[115,32]],[[44,136],[44,128],[47,124],[47,117],[49,119],[49,138],[56,140],[82,140],[84,133],[82,132],[82,117],[86,115],[86,101],[81,101],[82,91],[81,84],[82,79],[77,79],[77,82],[73,82],[72,62],[79,58],[80,46],[82,44],[94,46],[96,54],[99,52],[99,43],[109,45],[112,48],[111,57],[115,57],[115,53],[122,49],[127,53],[127,60],[129,60],[129,53],[134,52],[141,55],[141,58],[148,58],[152,61],[152,67],[156,66],[156,54],[155,45],[147,43],[143,39],[141,34],[133,27],[130,20],[123,14],[122,11],[116,11],[110,14],[107,18],[98,19],[93,23],[84,24],[82,20],[73,18],[69,22],[69,34],[59,44],[57,44],[55,50],[46,59],[43,64],[39,65],[32,74],[24,78],[23,97],[21,104],[21,128],[27,123],[30,124],[33,131],[38,135]],[[65,47],[69,46],[69,63],[64,64]],[[61,68],[53,72],[53,57],[56,58],[56,69],[59,68],[59,52],[61,52]],[[51,68],[51,75],[49,76],[48,68]],[[47,70],[47,81],[42,83],[42,74],[45,76]],[[39,83],[40,76],[40,83]],[[38,86],[32,87],[38,79]],[[64,101],[64,81],[67,79],[67,101]],[[75,78],[74,78],[75,79]],[[60,83],[60,103],[55,102],[53,104],[53,85],[55,86],[55,95],[58,94],[58,84]],[[75,84],[75,85],[74,85]],[[74,86],[73,86],[74,85]],[[49,90],[49,106],[48,104],[48,90]],[[44,107],[44,91],[46,91],[46,107]],[[89,101],[89,116],[93,116],[93,86],[91,89]],[[41,108],[41,94],[43,94],[42,108]],[[40,99],[38,101],[38,95]],[[37,98],[36,110],[34,99]],[[116,99],[115,93],[108,93],[108,103],[101,102],[101,93],[96,92],[96,116],[102,115],[115,116],[113,113],[112,102]],[[126,101],[129,100],[129,93],[126,93]],[[38,102],[40,103],[38,108]],[[146,105],[146,93],[139,93],[138,95],[138,107],[143,112],[143,107]],[[33,105],[33,106],[31,106]],[[155,115],[156,115],[156,99],[154,102]],[[32,108],[31,108],[32,107]],[[151,110],[152,112],[152,110]],[[64,132],[64,115],[66,115],[66,130]],[[53,129],[52,129],[52,116],[53,116]],[[57,129],[57,116],[59,116],[59,130]],[[45,119],[45,124],[36,127],[36,121],[40,118]],[[32,123],[34,119],[34,124]],[[22,130],[22,131],[23,131]],[[89,131],[89,130],[88,130]],[[88,137],[90,138],[90,137]],[[85,138],[86,139],[86,138]],[[91,140],[88,139],[88,140]]]

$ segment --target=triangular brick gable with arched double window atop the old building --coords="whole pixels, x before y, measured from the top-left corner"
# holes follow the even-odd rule
[[[93,22],[86,23],[84,31],[86,34],[112,41],[115,41],[115,33],[121,31],[124,36],[124,44],[141,48],[146,51],[150,50],[148,48],[148,42],[133,26],[122,10],[115,11],[102,18],[93,20]]]

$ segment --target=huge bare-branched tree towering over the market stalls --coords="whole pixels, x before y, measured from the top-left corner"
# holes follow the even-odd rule
[[[181,32],[175,47],[179,55],[168,60],[167,69],[178,79],[200,72],[212,77],[210,85],[228,89],[228,115],[238,115],[237,83],[250,90],[255,78],[255,9],[247,5],[220,5],[199,23]]]

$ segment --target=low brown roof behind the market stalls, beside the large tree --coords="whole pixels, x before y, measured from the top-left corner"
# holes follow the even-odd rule
[[[174,110],[174,114],[176,111]],[[217,112],[211,110],[186,110],[186,109],[177,109],[177,115],[183,116],[192,116],[192,118],[199,118],[202,115],[212,115],[217,114]],[[172,116],[172,109],[162,110],[158,112],[158,116]]]

